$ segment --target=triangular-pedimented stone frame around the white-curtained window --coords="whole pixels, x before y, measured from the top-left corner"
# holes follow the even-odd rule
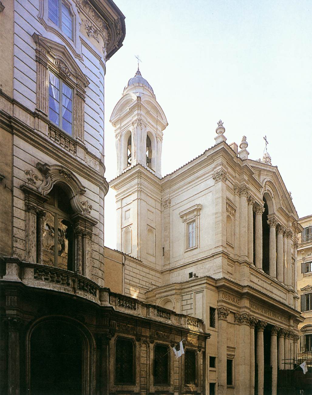
[[[68,49],[52,40],[34,33],[37,61],[37,111],[45,119],[49,115],[49,71],[62,79],[73,90],[73,130],[72,137],[52,121],[49,122],[49,138],[76,154],[76,141],[84,142],[84,102],[88,79],[73,60]]]

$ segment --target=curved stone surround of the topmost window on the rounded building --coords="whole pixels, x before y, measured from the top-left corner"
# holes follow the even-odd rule
[[[59,0],[60,1],[60,0]],[[81,55],[81,43],[79,38],[79,23],[80,18],[78,17],[77,11],[75,11],[74,6],[69,0],[61,0],[60,3],[63,3],[72,15],[72,29],[73,29],[73,38],[70,39],[63,31],[60,26],[56,25],[49,19],[49,0],[41,0],[39,1],[39,13],[38,19],[43,24],[45,29],[48,32],[54,33],[58,38],[60,38],[65,45],[67,45],[73,54],[82,60]],[[76,7],[75,7],[76,8]]]

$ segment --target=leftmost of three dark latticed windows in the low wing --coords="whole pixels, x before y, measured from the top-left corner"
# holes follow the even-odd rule
[[[135,384],[135,352],[132,340],[116,340],[115,383]]]

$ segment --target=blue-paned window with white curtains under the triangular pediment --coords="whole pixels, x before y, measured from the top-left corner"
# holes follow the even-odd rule
[[[73,90],[49,73],[49,119],[69,135],[73,134]]]

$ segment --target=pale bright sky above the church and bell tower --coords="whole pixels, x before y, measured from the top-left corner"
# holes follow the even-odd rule
[[[168,120],[162,174],[214,145],[222,119],[227,143],[247,136],[249,158],[272,164],[299,217],[312,214],[312,2],[116,0],[123,47],[105,76],[105,177],[116,175],[109,122],[129,78],[140,70]],[[105,198],[105,245],[116,248],[114,191]]]

